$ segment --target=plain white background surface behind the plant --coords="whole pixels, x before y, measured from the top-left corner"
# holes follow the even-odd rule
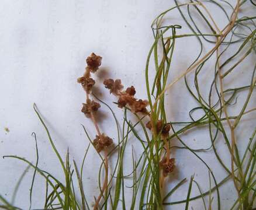
[[[236,1],[229,2],[232,5],[236,3]],[[46,132],[33,111],[33,103],[37,104],[61,156],[64,157],[69,148],[71,159],[74,158],[80,165],[88,145],[88,139],[81,124],[87,127],[92,138],[95,135],[95,128],[91,121],[80,111],[82,103],[85,102],[85,93],[77,83],[77,78],[84,73],[85,58],[91,52],[103,57],[101,69],[93,75],[94,78],[98,78],[94,91],[113,108],[117,118],[122,121],[123,110],[112,103],[116,98],[109,95],[108,90],[103,87],[103,79],[120,78],[124,86],[136,87],[138,98],[147,98],[144,69],[148,51],[154,41],[150,26],[155,16],[171,6],[174,6],[174,1],[167,0],[2,0],[0,7],[0,156],[18,155],[34,163],[36,150],[31,134],[36,132],[39,167],[63,180],[61,166],[51,149]],[[247,9],[250,10],[250,8]],[[253,12],[255,10],[251,11]],[[226,22],[222,21],[220,14],[214,13],[214,18],[220,27],[223,27]],[[165,21],[169,24],[184,26],[178,31],[179,34],[188,31],[178,10],[174,10],[168,17]],[[198,54],[196,38],[185,40],[177,41],[169,82],[184,72]],[[203,53],[211,47],[212,45],[208,44],[203,48]],[[253,59],[255,60],[252,57],[247,58],[244,71],[254,64]],[[152,78],[153,63],[151,67]],[[209,65],[209,69],[200,75],[202,76],[200,85],[205,86],[206,93],[210,85],[207,78],[214,74],[213,71],[214,67]],[[241,74],[242,71],[239,72]],[[239,74],[231,79],[234,84],[248,85],[248,78],[251,75],[246,77]],[[227,85],[229,85],[228,82]],[[252,97],[253,103],[249,104],[248,108],[255,107],[253,106],[256,102],[255,94]],[[238,99],[244,100],[242,93]],[[168,90],[167,113],[170,121],[189,120],[188,111],[195,106],[197,104],[189,96],[183,79]],[[234,107],[233,111],[236,113],[238,108],[240,107]],[[116,127],[110,111],[102,105],[101,114],[99,124],[101,129],[116,141]],[[244,126],[237,130],[240,139],[241,136],[245,139],[250,138],[253,129],[251,125],[255,125],[255,117],[255,113],[251,113],[244,118]],[[5,131],[5,127],[9,128],[9,132]],[[192,148],[206,148],[210,145],[207,129],[192,130],[182,135],[182,138]],[[218,141],[220,143],[223,139]],[[139,142],[136,138],[130,137],[124,162],[125,174],[129,174],[132,170],[132,145],[135,149],[137,148],[137,155],[141,152]],[[175,140],[174,145],[179,145],[179,142]],[[243,148],[243,143],[240,142],[240,146]],[[226,148],[218,149],[224,158]],[[200,155],[214,169],[217,181],[222,180],[226,173],[214,159],[213,152],[210,150]],[[202,190],[207,191],[209,178],[206,167],[187,150],[174,150],[174,156],[177,169],[167,181],[167,190],[182,178],[186,177],[189,180],[195,174],[195,180],[200,183]],[[227,163],[229,162],[227,158]],[[90,148],[83,177],[85,194],[90,204],[93,197],[99,194],[97,184],[100,163],[97,153]],[[9,201],[12,199],[15,184],[25,169],[26,164],[18,160],[0,159],[0,194]],[[32,176],[33,170],[29,169],[15,199],[15,205],[23,209],[28,209],[29,206]],[[128,179],[127,186],[131,183],[132,180]],[[186,198],[188,184],[189,182],[184,185],[183,190],[175,192],[169,201]],[[45,181],[37,175],[32,208],[43,208],[44,187]],[[198,195],[198,193],[197,188],[193,188],[192,195]],[[224,184],[220,193],[222,209],[229,209],[235,196],[233,183]],[[213,196],[215,197],[215,194]],[[130,197],[127,196],[127,204],[129,199]],[[216,206],[215,201],[216,197],[213,200],[213,206]],[[193,209],[202,209],[202,200],[191,202],[190,208],[191,206]],[[184,205],[169,206],[167,209],[184,209]]]

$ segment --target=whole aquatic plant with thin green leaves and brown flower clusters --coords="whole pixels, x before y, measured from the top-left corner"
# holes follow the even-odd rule
[[[229,78],[244,70],[243,64],[247,62],[247,58],[252,58],[252,62],[255,62],[255,17],[247,14],[247,10],[244,9],[248,6],[254,7],[255,3],[254,1],[239,0],[236,5],[231,5],[227,1],[212,0],[190,1],[182,4],[179,4],[177,0],[174,2],[175,6],[157,16],[151,26],[154,42],[150,48],[145,69],[147,99],[137,99],[136,92],[139,92],[140,89],[134,84],[127,84],[128,88],[124,88],[121,79],[108,78],[105,79],[103,85],[116,97],[116,99],[114,98],[115,105],[106,104],[94,95],[94,85],[97,79],[92,78],[92,74],[101,71],[102,62],[102,58],[94,53],[89,55],[86,60],[87,67],[84,75],[78,78],[77,82],[82,85],[86,95],[81,111],[94,124],[96,130],[94,138],[91,138],[87,129],[83,127],[90,142],[87,152],[89,146],[93,145],[95,152],[102,160],[99,166],[100,192],[93,201],[93,208],[164,209],[171,206],[174,209],[190,209],[191,201],[201,199],[203,209],[223,209],[227,206],[222,202],[222,197],[225,196],[223,195],[224,183],[231,181],[236,194],[234,202],[232,203],[230,200],[227,209],[252,210],[255,208],[256,201],[256,127],[254,125],[255,118],[252,115],[256,110],[253,102],[255,100],[253,94],[256,87],[256,63],[247,67],[243,72],[246,83],[236,83],[236,78]],[[215,10],[210,10],[209,5],[215,5],[226,18],[223,20],[223,27],[217,24]],[[182,26],[175,24],[175,19],[169,18],[170,23],[167,21],[169,24],[164,24],[165,22],[162,21],[174,10],[181,15],[184,26],[188,26],[188,33],[183,34]],[[191,38],[194,43],[198,43],[198,47],[193,49],[195,58],[184,71],[179,71],[179,75],[174,78],[172,73],[177,71],[174,55],[180,53],[177,44],[186,39],[191,41]],[[184,49],[184,53],[185,51],[186,49]],[[207,81],[204,81],[204,74],[208,76]],[[182,88],[187,90],[191,100],[196,102],[195,107],[191,110],[181,110],[188,113],[189,120],[186,121],[175,121],[168,113],[166,93],[169,89],[174,88],[178,81],[184,81]],[[205,85],[206,82],[209,83],[209,86]],[[241,93],[245,95],[244,99],[238,97]],[[178,101],[180,97],[184,96],[179,95],[175,99]],[[110,138],[104,134],[95,118],[99,108],[103,105],[109,108],[109,113],[112,113],[116,122],[115,143],[112,140],[114,136]],[[123,118],[118,120],[113,111],[116,106],[123,110]],[[33,164],[17,156],[6,157],[26,162],[33,167],[34,174],[40,174],[45,178],[47,187],[44,208],[90,209],[88,194],[91,194],[91,191],[82,182],[87,152],[79,172],[75,162],[71,166],[69,154],[65,160],[61,158],[36,106],[34,109],[46,129],[53,150],[63,167],[65,182],[61,182],[51,173],[40,169],[37,162]],[[196,111],[200,111],[200,114],[194,117],[193,113]],[[130,119],[127,115],[128,112],[135,116],[137,121]],[[248,115],[252,116],[252,119],[247,119],[251,122],[252,132],[251,134],[244,133],[243,136],[238,135],[238,128],[243,131],[243,119]],[[118,121],[121,122],[120,126]],[[200,142],[197,148],[189,146],[184,133],[186,136],[190,136],[190,131],[193,129],[203,129],[209,132],[205,138],[205,142],[208,142],[209,146],[202,148]],[[35,135],[34,138],[36,140]],[[142,150],[136,156],[137,148],[132,146],[132,157],[126,160],[125,154],[127,148],[131,146],[131,138],[137,139]],[[222,157],[220,148],[225,149],[224,151],[229,157],[228,160]],[[179,164],[187,158],[183,156],[183,159],[179,159],[176,154],[180,150],[191,153],[202,163],[202,169],[209,171],[207,174],[209,175],[209,189],[205,190],[206,183],[198,180],[192,170],[191,174],[178,177],[178,180],[170,181],[168,179],[175,174],[175,170],[184,170],[190,167],[187,165],[181,167]],[[203,156],[205,153],[207,153],[208,159]],[[112,156],[113,154],[116,155],[116,158]],[[113,162],[113,166],[110,166],[109,159]],[[218,163],[219,167],[225,171],[226,176],[217,177],[217,170],[209,163],[209,159]],[[126,171],[127,161],[133,167],[129,173]],[[103,171],[103,169],[105,170]],[[74,193],[73,171],[77,175],[79,197]],[[101,175],[103,173],[102,184]],[[175,196],[175,192],[184,191],[188,177],[186,197]],[[131,181],[132,184],[128,181]],[[33,182],[34,177],[30,187],[31,192],[33,192]],[[171,189],[169,184],[173,186]],[[202,184],[203,189],[200,187]],[[198,189],[198,195],[193,196],[192,190],[195,187]],[[127,201],[128,196],[131,197],[129,201]],[[32,198],[32,194],[30,194],[30,198]],[[172,200],[170,201],[169,198]],[[0,197],[0,199],[4,203],[3,208],[19,209],[4,197]]]

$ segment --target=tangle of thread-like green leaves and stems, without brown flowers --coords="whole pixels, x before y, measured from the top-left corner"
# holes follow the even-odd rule
[[[240,142],[241,139],[234,139],[234,136],[231,134],[236,134],[236,128],[243,126],[243,116],[245,114],[250,114],[251,111],[255,110],[255,108],[247,110],[247,107],[251,101],[252,92],[254,91],[256,85],[256,63],[254,67],[251,67],[251,69],[248,69],[246,72],[246,74],[251,75],[251,79],[248,81],[247,85],[235,86],[228,89],[224,89],[222,85],[222,81],[227,76],[233,74],[234,71],[238,71],[237,69],[240,69],[241,71],[240,65],[244,62],[245,58],[252,56],[255,60],[256,24],[254,20],[256,19],[256,16],[240,17],[238,13],[238,16],[236,16],[234,22],[232,19],[232,15],[234,15],[239,8],[245,5],[255,6],[255,2],[253,0],[244,0],[241,2],[238,1],[236,7],[233,7],[229,2],[224,0],[209,0],[207,3],[215,5],[220,9],[221,12],[223,12],[224,16],[226,16],[227,28],[230,27],[228,32],[224,33],[224,30],[219,31],[215,22],[212,21],[212,17],[209,15],[209,13],[207,13],[208,11],[206,10],[205,6],[199,1],[195,0],[188,3],[179,4],[178,1],[175,0],[176,6],[162,12],[159,16],[157,16],[152,24],[154,43],[150,48],[146,62],[146,88],[148,101],[150,104],[150,120],[153,122],[153,127],[158,120],[161,120],[165,124],[168,123],[171,125],[172,133],[168,138],[169,148],[171,148],[171,150],[186,149],[195,155],[200,162],[202,162],[202,165],[205,166],[209,171],[209,190],[202,192],[199,183],[195,180],[194,176],[191,176],[186,198],[169,202],[169,197],[171,197],[174,192],[178,191],[180,187],[186,183],[186,177],[181,178],[177,185],[164,194],[164,190],[162,189],[160,183],[160,160],[162,156],[165,155],[166,151],[160,134],[151,135],[151,133],[148,133],[144,123],[144,118],[148,118],[148,116],[141,117],[140,115],[134,114],[137,118],[137,122],[134,123],[129,120],[129,117],[127,117],[127,112],[130,111],[129,108],[125,108],[122,128],[120,128],[112,108],[95,96],[96,99],[105,104],[113,114],[113,118],[116,122],[118,139],[115,148],[110,150],[108,153],[109,158],[112,157],[113,153],[117,153],[117,159],[115,160],[115,166],[113,167],[112,173],[109,176],[108,187],[104,192],[100,192],[103,197],[99,207],[100,209],[163,209],[165,206],[168,208],[169,206],[178,204],[184,204],[185,209],[189,209],[190,202],[195,199],[202,199],[204,209],[212,209],[213,192],[216,193],[217,197],[217,199],[214,199],[216,202],[216,209],[222,209],[220,199],[220,191],[222,190],[221,186],[230,180],[233,180],[237,190],[237,199],[230,209],[252,209],[255,205],[256,127],[254,128],[254,132],[251,134],[250,138],[243,139],[243,144],[247,144],[247,147],[243,153],[241,153],[241,151],[239,151],[237,148],[237,143]],[[227,12],[227,7],[229,7],[229,11],[231,11],[230,13]],[[175,9],[178,9],[184,23],[188,26],[191,33],[179,34],[179,30],[182,28],[182,26],[179,24],[171,24],[167,26],[162,24],[162,20],[165,19],[165,16]],[[196,12],[200,19],[196,19],[194,17],[195,15],[192,15],[192,10],[193,12]],[[202,32],[198,22],[203,22],[207,27],[207,31],[209,30],[211,32]],[[171,34],[171,36],[169,34]],[[168,77],[171,75],[171,71],[173,71],[173,55],[175,53],[177,42],[184,41],[188,37],[195,37],[198,41],[198,56],[181,76],[174,79],[174,82],[168,84]],[[204,55],[203,47],[205,44],[211,44],[213,49]],[[236,48],[236,50],[230,50],[231,47],[232,49]],[[202,89],[205,87],[200,86],[199,77],[206,68],[209,68],[209,65],[207,66],[207,64],[212,62],[210,61],[210,58],[215,58],[216,64],[214,67],[212,67],[214,76],[209,80],[211,85],[208,96],[204,97],[202,95]],[[150,61],[152,60],[154,61],[154,72],[150,72]],[[187,74],[192,71],[194,72],[194,88],[192,85],[189,85],[187,79]],[[208,69],[207,71],[210,70]],[[154,74],[154,80],[152,83],[150,83],[151,81],[149,78],[150,74],[152,73]],[[198,104],[198,106],[188,111],[191,121],[176,122],[170,121],[167,118],[165,93],[180,79],[184,79],[185,88]],[[247,94],[245,101],[237,101],[237,95],[241,92]],[[240,103],[241,109],[237,115],[228,115],[225,111],[225,109],[230,107],[232,103]],[[44,124],[43,119],[36,109],[36,106],[34,106],[34,110],[43,124],[43,127],[46,129],[51,146],[61,164],[63,175],[65,177],[65,183],[52,176],[49,172],[38,167],[37,144],[36,164],[33,164],[22,157],[5,156],[22,160],[34,169],[33,180],[30,187],[30,208],[32,206],[31,201],[33,195],[34,177],[36,174],[39,174],[46,180],[44,209],[90,209],[87,199],[87,195],[90,192],[85,191],[82,181],[84,162],[87,157],[87,152],[92,145],[92,140],[88,135],[86,128],[83,126],[85,134],[87,135],[90,143],[85,152],[81,168],[78,169],[75,161],[71,164],[69,153],[67,153],[65,160],[61,157],[56,146],[54,145],[53,140],[51,139],[46,124]],[[203,113],[198,120],[195,120],[192,117],[192,113],[196,110],[200,110]],[[232,125],[230,128],[227,128],[226,125],[230,121],[232,122]],[[252,124],[252,126],[255,125]],[[189,147],[182,139],[182,134],[184,134],[185,131],[199,127],[205,128],[207,131],[209,131],[209,148],[193,149]],[[36,140],[36,135],[33,135]],[[130,174],[124,174],[124,154],[127,148],[127,143],[129,143],[129,138],[137,138],[141,144],[141,147],[143,148],[143,152],[139,157],[136,157],[134,155],[134,149],[132,148],[131,164],[133,166],[133,170]],[[174,139],[178,139],[181,145],[172,146]],[[231,159],[231,166],[227,165],[217,152],[217,141],[221,142],[221,146],[227,147]],[[210,150],[213,151],[216,161],[219,162],[220,166],[222,166],[226,171],[226,177],[223,177],[223,180],[216,179],[214,173],[215,170],[200,156],[201,152],[208,152]],[[102,189],[101,175],[103,173],[103,169],[105,168],[105,162],[104,157],[102,157],[100,153],[99,158],[102,160],[102,163],[99,166],[98,183],[99,189]],[[23,176],[24,174],[22,174],[20,180]],[[80,192],[79,195],[75,194],[76,187],[73,184],[74,179],[77,179],[78,181]],[[127,187],[125,184],[127,179],[132,179],[133,183],[130,187]],[[213,186],[211,180],[213,180]],[[200,194],[195,197],[191,197],[193,187],[198,188],[200,192]],[[132,197],[132,202],[129,204],[126,202],[127,188],[129,188],[129,196]],[[209,198],[208,202],[205,199],[206,197]],[[13,206],[13,202],[8,202],[2,196],[0,196],[0,201],[2,201],[2,205],[0,207],[3,209],[20,209]]]

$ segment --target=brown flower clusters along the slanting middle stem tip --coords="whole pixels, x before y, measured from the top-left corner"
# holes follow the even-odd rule
[[[119,97],[117,101],[118,107],[123,108],[126,105],[129,105],[134,113],[148,114],[146,108],[148,106],[148,101],[136,99],[136,97],[134,97],[136,93],[134,86],[122,91],[123,85],[120,79],[116,79],[115,81],[113,79],[105,79],[103,84],[105,85],[105,88],[109,89],[110,93]]]

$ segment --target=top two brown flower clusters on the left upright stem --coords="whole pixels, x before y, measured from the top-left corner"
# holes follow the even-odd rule
[[[91,78],[91,72],[94,73],[99,69],[101,65],[102,57],[92,53],[86,60],[87,67],[85,68],[85,73],[83,76],[77,79],[77,82],[82,85],[85,92],[91,93],[92,86],[94,86],[95,81]]]

